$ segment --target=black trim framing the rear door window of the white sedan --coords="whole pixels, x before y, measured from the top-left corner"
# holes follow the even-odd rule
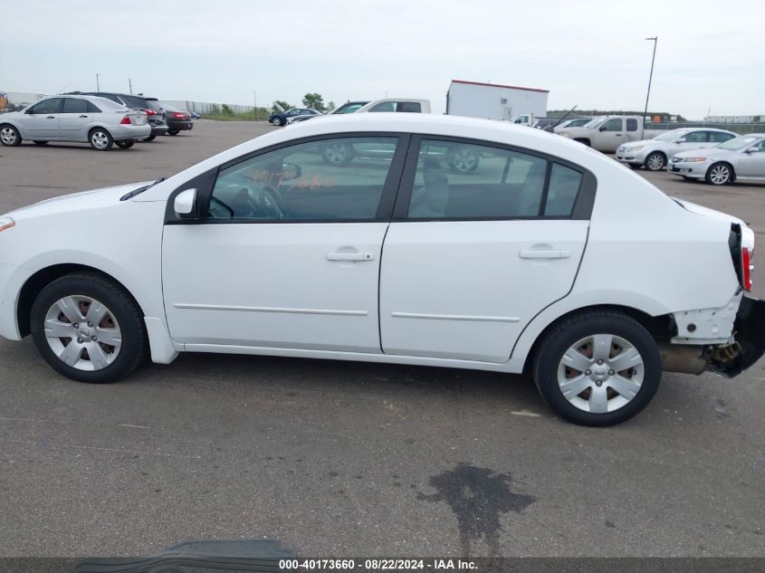
[[[595,205],[595,196],[598,190],[598,179],[587,168],[581,167],[575,163],[571,163],[567,159],[551,156],[546,153],[542,153],[535,149],[519,148],[517,146],[507,145],[495,141],[484,141],[482,139],[471,138],[454,138],[443,135],[429,135],[429,134],[415,134],[409,141],[409,149],[406,153],[406,164],[401,174],[401,182],[398,189],[398,195],[396,197],[396,205],[393,208],[393,222],[396,223],[412,223],[422,222],[421,219],[409,218],[409,201],[411,200],[412,192],[415,186],[415,177],[417,171],[417,163],[419,159],[420,146],[424,139],[434,141],[445,141],[447,143],[462,143],[464,145],[477,145],[487,148],[498,148],[504,151],[513,151],[516,153],[523,153],[536,158],[541,158],[547,161],[547,170],[545,172],[545,185],[542,190],[542,200],[540,201],[540,215],[537,216],[495,216],[495,217],[445,217],[433,219],[435,222],[439,221],[524,221],[524,220],[560,220],[571,219],[577,221],[588,221],[592,216],[592,208]],[[547,196],[550,190],[550,174],[553,164],[559,164],[563,167],[569,167],[574,171],[578,171],[582,174],[582,180],[579,184],[579,192],[577,194],[577,200],[571,210],[569,216],[552,216],[543,215],[547,205]]]

